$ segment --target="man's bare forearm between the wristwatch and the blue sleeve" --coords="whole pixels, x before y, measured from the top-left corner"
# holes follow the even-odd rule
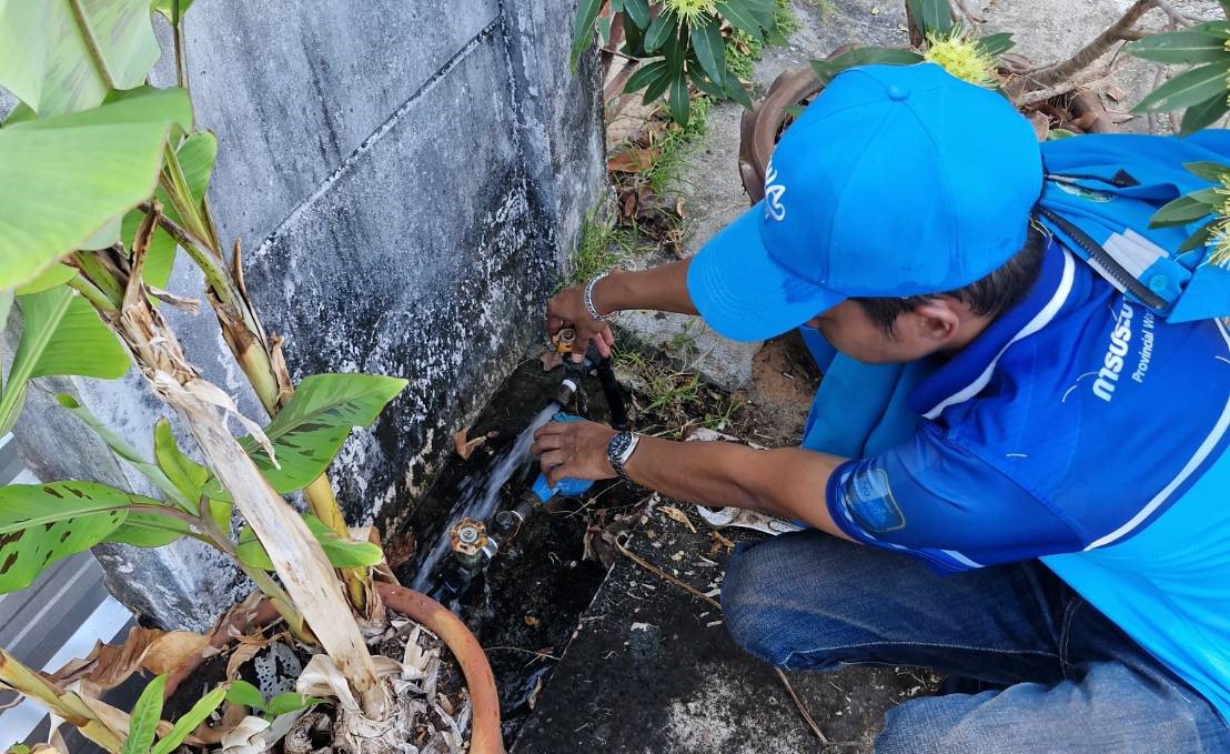
[[[824,492],[836,456],[733,443],[673,443],[642,437],[626,471],[662,494],[715,508],[732,506],[802,520],[849,539],[833,523]]]

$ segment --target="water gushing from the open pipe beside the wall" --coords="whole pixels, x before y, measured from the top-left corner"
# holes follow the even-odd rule
[[[539,427],[551,421],[551,417],[560,411],[560,403],[551,401],[546,408],[539,412],[534,421],[517,435],[514,442],[502,454],[491,459],[482,474],[465,480],[458,492],[458,499],[449,510],[448,522],[439,538],[432,545],[430,551],[418,563],[418,572],[411,588],[416,592],[430,592],[434,585],[435,572],[440,560],[449,552],[449,530],[453,523],[461,518],[472,518],[480,522],[490,522],[499,507],[499,490],[517,472],[517,470],[529,460],[530,445],[534,444],[534,433]]]

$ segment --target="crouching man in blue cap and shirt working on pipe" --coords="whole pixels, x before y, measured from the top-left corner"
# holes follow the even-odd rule
[[[1149,226],[1208,186],[1183,162],[1226,155],[1225,132],[1039,145],[932,64],[849,70],[694,260],[547,305],[603,348],[624,309],[802,326],[825,371],[803,446],[576,422],[534,453],[808,524],[731,560],[726,622],[764,662],[994,689],[892,710],[881,754],[1230,752],[1230,285],[1171,253],[1191,228]]]

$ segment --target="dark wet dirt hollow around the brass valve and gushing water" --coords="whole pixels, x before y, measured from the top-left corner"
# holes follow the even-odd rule
[[[585,418],[610,419],[601,383],[579,376],[577,394],[561,396],[563,371],[547,373],[530,360],[513,373],[469,428],[470,437],[488,439],[469,459],[451,459],[390,547],[410,554],[395,568],[399,579],[448,604],[486,649],[506,745],[533,712],[606,576],[600,562],[584,560],[590,524],[600,512],[643,498],[621,483],[599,483],[576,497],[563,490],[546,509],[529,513],[524,494],[539,470],[533,461],[517,462],[528,448],[526,428],[549,421],[560,397],[568,399],[566,412],[576,413],[579,403],[588,408]],[[513,510],[524,520],[510,519]]]

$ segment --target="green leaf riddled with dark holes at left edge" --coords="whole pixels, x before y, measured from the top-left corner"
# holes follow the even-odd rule
[[[133,506],[157,504],[97,482],[0,487],[0,593],[28,587],[48,565],[106,540]]]

